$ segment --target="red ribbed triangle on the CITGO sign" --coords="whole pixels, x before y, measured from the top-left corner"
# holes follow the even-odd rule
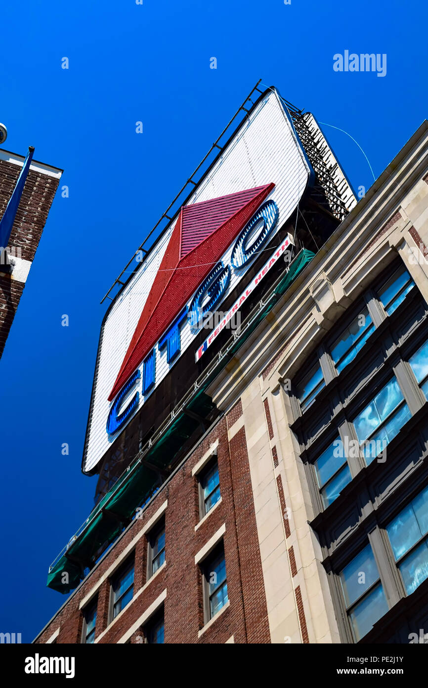
[[[183,206],[109,401],[168,329],[275,184]]]

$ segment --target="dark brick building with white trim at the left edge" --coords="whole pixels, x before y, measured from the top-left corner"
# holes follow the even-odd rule
[[[0,149],[0,220],[12,198],[25,158]],[[18,308],[62,170],[31,160],[8,244],[0,260],[0,356]],[[5,250],[7,249],[7,250]]]

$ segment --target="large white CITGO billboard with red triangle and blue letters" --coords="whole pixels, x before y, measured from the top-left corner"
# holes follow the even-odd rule
[[[292,237],[283,239],[276,258],[273,248],[262,254],[296,210],[311,175],[286,107],[269,89],[106,314],[85,473],[98,470],[126,424],[174,375],[174,365],[200,334],[203,313],[218,310],[235,288],[245,294],[254,261],[264,255],[268,270],[278,250],[292,243]],[[208,345],[198,348],[193,346],[195,366],[210,356]]]

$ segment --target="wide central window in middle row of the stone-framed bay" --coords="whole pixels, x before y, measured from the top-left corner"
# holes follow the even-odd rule
[[[367,464],[385,449],[410,416],[396,378],[391,378],[370,404],[354,418],[354,428]]]

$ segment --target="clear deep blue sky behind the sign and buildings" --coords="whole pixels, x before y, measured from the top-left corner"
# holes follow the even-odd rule
[[[54,200],[0,361],[0,631],[30,642],[66,599],[45,587],[49,563],[93,506],[96,477],[80,462],[100,299],[260,77],[346,129],[379,175],[427,117],[427,9],[420,0],[4,0],[1,28],[5,147],[25,155],[34,145],[69,186],[68,199]],[[344,50],[386,53],[386,76],[334,72]],[[361,151],[324,131],[354,188],[368,188]]]

